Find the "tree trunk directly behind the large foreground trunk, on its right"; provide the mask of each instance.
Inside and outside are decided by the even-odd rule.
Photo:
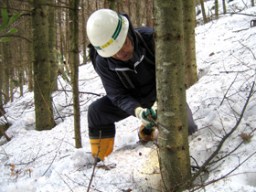
[[[195,0],[183,0],[184,34],[185,34],[185,69],[187,89],[195,84],[197,76],[196,59],[196,9]]]

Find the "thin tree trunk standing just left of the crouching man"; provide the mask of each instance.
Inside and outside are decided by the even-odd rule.
[[[71,82],[73,88],[73,108],[74,108],[74,130],[76,148],[81,147],[80,138],[80,97],[79,97],[79,0],[70,0],[70,33],[72,34],[71,43]]]

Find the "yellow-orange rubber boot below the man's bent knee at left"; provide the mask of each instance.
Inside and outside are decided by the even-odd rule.
[[[100,139],[90,139],[90,143],[91,155],[95,157],[99,152],[98,158],[104,161],[104,158],[112,153],[114,138],[101,139],[101,144]]]

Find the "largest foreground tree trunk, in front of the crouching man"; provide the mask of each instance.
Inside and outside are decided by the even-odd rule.
[[[155,0],[155,60],[162,191],[182,191],[191,177],[187,136],[182,0]]]

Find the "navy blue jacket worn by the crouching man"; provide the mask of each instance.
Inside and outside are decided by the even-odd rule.
[[[128,18],[128,16],[126,17]],[[123,62],[113,58],[102,58],[98,55],[96,57],[96,68],[107,96],[112,103],[124,112],[134,115],[137,107],[150,108],[156,100],[154,28],[139,27],[134,29],[129,18],[128,20],[129,29],[133,35],[133,56],[135,52],[138,57],[135,57],[132,63],[132,61]],[[134,30],[137,30],[144,37],[144,41],[154,55],[144,48],[144,43],[140,42]],[[147,62],[148,59],[151,62]],[[125,71],[135,88],[125,88],[115,70]]]

